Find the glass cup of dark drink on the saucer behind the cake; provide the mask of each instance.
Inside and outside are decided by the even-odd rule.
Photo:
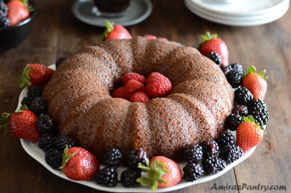
[[[104,17],[121,17],[130,10],[131,0],[93,0],[92,13]]]

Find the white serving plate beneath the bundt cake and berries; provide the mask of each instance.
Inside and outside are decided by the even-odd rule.
[[[50,65],[49,68],[51,69],[55,69],[55,65]],[[27,88],[23,89],[19,95],[19,100],[18,100],[18,106],[17,109],[18,110],[21,106],[21,101],[23,99],[23,97],[27,96]],[[235,136],[235,132],[232,132]],[[23,149],[33,158],[35,159],[37,162],[41,163],[45,168],[47,168],[51,173],[53,173],[54,175],[60,177],[60,178],[64,178],[66,180],[69,181],[73,181],[75,183],[79,183],[91,188],[94,188],[96,190],[100,190],[100,191],[106,191],[106,192],[114,192],[114,193],[152,193],[153,191],[149,188],[149,187],[136,187],[136,188],[125,188],[122,186],[121,182],[117,183],[116,187],[104,187],[104,186],[100,186],[98,185],[96,182],[94,181],[77,181],[77,180],[72,180],[69,179],[65,176],[65,174],[61,173],[59,170],[53,169],[51,168],[45,161],[45,152],[43,150],[41,150],[40,148],[38,148],[37,143],[35,142],[31,142],[31,141],[27,141],[25,139],[20,139],[21,145],[23,147]],[[231,170],[234,166],[236,166],[237,164],[241,163],[242,161],[244,161],[245,159],[247,159],[254,151],[255,148],[251,148],[249,149],[247,152],[243,153],[242,157],[238,160],[236,160],[233,163],[230,163],[228,165],[226,165],[226,168],[223,171],[218,172],[217,174],[214,175],[207,175],[207,176],[202,176],[200,178],[198,178],[197,180],[193,181],[193,182],[187,182],[186,180],[182,179],[178,184],[169,187],[169,188],[163,188],[163,189],[157,189],[155,192],[156,193],[165,193],[165,192],[169,192],[169,191],[174,191],[174,190],[178,190],[178,189],[182,189],[188,186],[192,186],[194,184],[199,184],[199,183],[203,183],[206,181],[210,181],[214,178],[218,178],[220,176],[222,176],[223,174],[225,174],[227,171]],[[185,162],[181,162],[178,163],[180,169],[182,170],[182,168],[186,165]],[[104,165],[100,165],[100,168],[102,168]],[[126,167],[124,166],[120,166],[118,167],[118,179],[120,179],[120,174],[123,170],[125,170]]]

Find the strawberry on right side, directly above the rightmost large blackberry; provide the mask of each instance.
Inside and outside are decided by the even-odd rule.
[[[249,66],[247,72],[242,74],[241,86],[247,88],[253,95],[254,99],[264,100],[267,92],[266,69],[256,73],[255,66]]]

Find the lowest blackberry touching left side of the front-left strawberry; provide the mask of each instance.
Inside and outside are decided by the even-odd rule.
[[[45,161],[54,169],[59,169],[63,163],[63,151],[55,148],[49,149],[45,154]]]

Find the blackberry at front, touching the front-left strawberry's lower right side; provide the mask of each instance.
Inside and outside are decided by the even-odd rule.
[[[113,187],[117,185],[117,169],[114,166],[104,167],[97,172],[93,180],[102,186]]]

